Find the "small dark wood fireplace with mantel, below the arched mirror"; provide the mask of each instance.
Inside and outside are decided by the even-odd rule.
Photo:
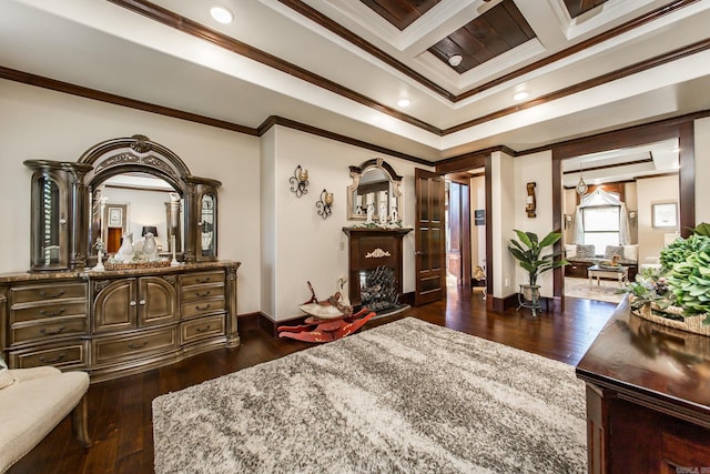
[[[410,229],[344,228],[349,238],[349,299],[378,314],[397,311],[402,295],[402,241]]]

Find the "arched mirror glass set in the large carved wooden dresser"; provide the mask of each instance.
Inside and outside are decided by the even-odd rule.
[[[104,251],[113,254],[129,238],[142,251],[146,236],[152,235],[158,254],[171,253],[173,240],[175,251],[182,252],[183,205],[182,196],[161,178],[142,172],[116,174],[93,192],[92,241],[101,236]]]

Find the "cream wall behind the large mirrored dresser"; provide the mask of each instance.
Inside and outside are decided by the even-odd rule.
[[[77,161],[95,143],[135,133],[178,154],[192,174],[222,181],[219,253],[242,262],[237,312],[260,310],[258,139],[0,80],[0,272],[30,266],[29,159]]]

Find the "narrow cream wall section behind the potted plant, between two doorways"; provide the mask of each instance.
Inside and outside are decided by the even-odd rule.
[[[535,232],[540,239],[552,231],[552,152],[518,157],[515,160],[515,229],[524,232]],[[535,218],[528,218],[525,210],[527,199],[527,183],[535,182],[537,211]],[[510,231],[508,239],[517,239]],[[552,252],[552,248],[542,251],[542,255]],[[528,284],[528,273],[516,261],[516,289],[520,284]],[[542,296],[552,296],[552,272],[548,271],[538,276],[537,284]]]

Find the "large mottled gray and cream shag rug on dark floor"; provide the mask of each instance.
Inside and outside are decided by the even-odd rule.
[[[153,401],[156,473],[584,473],[574,367],[413,317]]]

